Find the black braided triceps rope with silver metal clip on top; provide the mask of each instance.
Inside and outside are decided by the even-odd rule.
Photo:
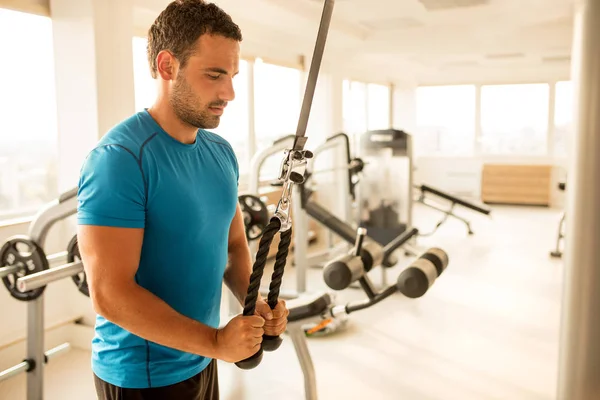
[[[248,294],[246,295],[244,304],[244,316],[254,315],[256,311],[256,301],[258,300],[260,283],[267,264],[267,256],[275,235],[277,232],[280,232],[279,247],[275,256],[275,266],[273,275],[271,276],[271,284],[269,285],[269,295],[267,297],[267,303],[271,309],[274,309],[277,306],[285,264],[287,262],[289,247],[292,242],[290,206],[293,185],[304,182],[307,159],[312,156],[313,154],[308,150],[286,151],[286,157],[281,164],[281,173],[279,175],[279,178],[284,181],[283,192],[275,214],[265,228],[258,245],[256,260],[254,261],[252,275],[250,276]],[[264,335],[260,349],[251,357],[237,362],[236,365],[242,369],[255,368],[262,360],[263,351],[277,350],[281,345],[281,342],[282,339],[279,336]]]

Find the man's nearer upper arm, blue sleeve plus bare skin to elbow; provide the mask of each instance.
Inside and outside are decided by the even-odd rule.
[[[90,295],[100,308],[105,295],[135,283],[145,227],[140,168],[129,150],[114,145],[92,151],[81,171],[77,237]]]

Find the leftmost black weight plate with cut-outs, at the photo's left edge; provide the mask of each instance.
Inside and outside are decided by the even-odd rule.
[[[12,297],[21,301],[35,300],[44,293],[46,286],[21,292],[17,289],[17,279],[41,272],[50,268],[44,250],[26,236],[13,236],[4,243],[0,250],[0,266],[19,265],[22,268],[2,278],[4,286]]]

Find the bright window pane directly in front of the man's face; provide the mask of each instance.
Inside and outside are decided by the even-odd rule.
[[[221,123],[212,132],[227,140],[238,159],[240,176],[248,173],[250,166],[250,116],[248,62],[240,60],[240,72],[233,78],[235,100],[229,102],[221,117]]]

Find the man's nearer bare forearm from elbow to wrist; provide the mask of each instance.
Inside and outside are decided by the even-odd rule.
[[[217,330],[188,318],[136,283],[105,289],[97,311],[123,329],[160,345],[219,358]],[[110,291],[108,291],[110,290]]]

